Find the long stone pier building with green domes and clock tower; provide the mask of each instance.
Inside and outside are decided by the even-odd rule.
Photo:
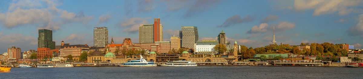
[[[235,42],[234,48],[237,48],[238,45]],[[106,49],[107,50],[107,49]],[[128,60],[138,60],[140,56],[117,56],[112,52],[108,52],[106,55],[95,51],[87,56],[87,62],[110,62],[110,63],[124,63]],[[237,49],[233,51],[233,53],[229,53],[228,55],[212,55],[212,54],[196,54],[191,55],[187,51],[184,51],[182,54],[156,54],[156,52],[150,52],[148,55],[143,56],[147,61],[153,62],[168,62],[170,60],[184,60],[184,61],[192,61],[198,62],[201,65],[209,64],[209,65],[225,65],[227,63],[232,63],[238,61],[237,59]]]

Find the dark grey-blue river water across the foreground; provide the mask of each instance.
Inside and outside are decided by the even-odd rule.
[[[361,79],[363,68],[196,66],[12,68],[0,79]]]

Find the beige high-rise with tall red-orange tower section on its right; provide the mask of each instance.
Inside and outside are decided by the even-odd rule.
[[[154,24],[139,26],[139,43],[155,43],[163,41],[163,26],[160,18],[154,18]]]

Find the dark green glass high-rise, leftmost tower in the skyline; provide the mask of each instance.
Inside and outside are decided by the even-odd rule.
[[[56,42],[53,41],[52,30],[38,30],[38,48],[56,49]]]

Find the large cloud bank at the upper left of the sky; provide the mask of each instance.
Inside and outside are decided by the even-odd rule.
[[[45,3],[42,5],[41,3]],[[37,28],[46,28],[52,30],[60,29],[61,25],[73,22],[87,23],[92,16],[86,16],[83,12],[78,14],[67,12],[56,8],[61,3],[54,3],[49,0],[20,0],[14,1],[9,6],[9,10],[0,13],[0,22],[6,28],[14,28],[23,25],[34,25]],[[61,13],[61,14],[60,14]],[[60,15],[60,16],[59,16]],[[53,21],[55,17],[61,17],[63,21]]]

